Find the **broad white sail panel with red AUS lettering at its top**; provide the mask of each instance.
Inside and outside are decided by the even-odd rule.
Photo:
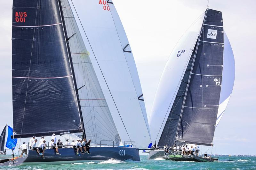
[[[80,32],[121,139],[135,141],[136,147],[147,147],[151,139],[135,87],[139,82],[134,84],[138,80],[131,73],[136,66],[126,61],[107,1],[69,2],[77,12],[76,21],[81,21]]]

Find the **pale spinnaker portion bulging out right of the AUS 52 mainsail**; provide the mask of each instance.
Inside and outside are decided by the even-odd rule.
[[[220,122],[221,117],[224,114],[231,93],[233,91],[235,81],[235,58],[228,40],[226,33],[224,32],[224,54],[223,54],[223,71],[222,71],[222,82],[220,91],[220,105],[217,115],[216,127]]]

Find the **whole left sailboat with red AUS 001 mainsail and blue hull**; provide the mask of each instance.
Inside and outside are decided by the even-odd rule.
[[[75,2],[77,1],[13,1],[12,137],[52,136],[53,133],[62,136],[82,134],[82,138],[92,138],[92,142],[99,147],[91,147],[90,154],[80,156],[76,155],[73,148],[58,149],[60,155],[56,155],[53,149],[46,149],[44,159],[35,151],[29,150],[28,154],[21,158],[1,160],[0,165],[63,164],[108,159],[140,161],[139,149],[134,146],[145,147],[151,142],[147,119],[144,117],[146,113],[140,82],[133,56],[130,54],[130,46],[122,48],[119,41],[118,48],[106,51],[101,54],[103,56],[98,54],[100,50],[92,45],[92,41],[106,40],[84,37],[87,31],[83,27],[84,33],[81,31],[81,26],[84,26],[82,21],[80,26],[76,22],[81,18],[75,18],[73,13],[79,12],[79,9],[72,9],[76,6]],[[112,19],[112,25],[121,24],[114,7],[113,11],[109,6],[105,10],[97,1],[81,1],[81,4],[86,3],[89,9],[100,9],[108,14],[113,12],[115,17],[108,15]],[[105,5],[109,3],[113,5],[110,1],[106,1]],[[72,8],[70,4],[73,4]],[[97,18],[94,19],[95,23],[100,22]],[[118,35],[122,34],[126,41],[123,28],[115,29],[115,37],[118,38]],[[114,40],[116,41],[113,38]],[[86,47],[90,49],[87,51]],[[124,74],[122,70],[113,72],[111,64],[104,65],[104,62],[97,60],[120,51],[122,55],[112,57],[122,60],[119,63],[125,62],[122,64],[122,70],[125,70],[125,73],[129,70],[129,75]],[[129,54],[125,55],[125,51]],[[129,61],[125,60],[127,56],[131,57]],[[98,62],[96,65],[95,61]],[[109,70],[102,67],[112,72],[109,73]],[[111,79],[109,76],[121,76],[123,79]],[[132,86],[124,86],[116,81],[129,82]],[[113,85],[118,85],[118,88]],[[115,88],[118,93],[115,93]],[[130,96],[125,97],[124,92]],[[118,124],[117,120],[121,120],[121,123]],[[131,120],[134,122],[129,122]],[[141,124],[140,132],[132,131],[137,121]],[[122,134],[121,137],[119,133]],[[133,133],[139,135],[138,144],[132,141],[136,141],[136,135]],[[128,139],[128,142],[121,141],[121,138]],[[127,144],[132,147],[125,147]]]

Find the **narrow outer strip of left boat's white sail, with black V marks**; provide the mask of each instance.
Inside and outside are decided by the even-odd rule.
[[[132,54],[132,50],[128,41],[128,38],[126,36],[126,33],[124,31],[124,27],[123,24],[119,18],[119,15],[116,11],[115,5],[113,4],[112,0],[108,1],[108,5],[110,7],[110,12],[112,14],[113,17],[113,21],[115,23],[116,26],[116,31],[118,34],[118,37],[120,39],[123,51],[124,51],[124,56],[127,62],[127,65],[129,67],[130,73],[131,73],[131,77],[132,77],[132,81],[135,87],[135,91],[137,93],[137,96],[139,98],[139,103],[140,103],[140,107],[141,107],[141,111],[142,114],[144,116],[144,120],[146,122],[147,128],[148,128],[148,133],[150,135],[150,131],[149,131],[149,126],[148,126],[148,116],[147,116],[147,112],[146,112],[146,107],[145,107],[145,103],[144,103],[144,98],[143,98],[143,93],[142,93],[142,89],[141,89],[141,85],[140,85],[140,78],[139,78],[139,74],[136,68],[136,63],[134,61],[133,58],[133,54]]]

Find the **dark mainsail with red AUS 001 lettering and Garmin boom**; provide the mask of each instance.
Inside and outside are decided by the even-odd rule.
[[[82,132],[58,0],[13,1],[12,93],[15,138]]]

